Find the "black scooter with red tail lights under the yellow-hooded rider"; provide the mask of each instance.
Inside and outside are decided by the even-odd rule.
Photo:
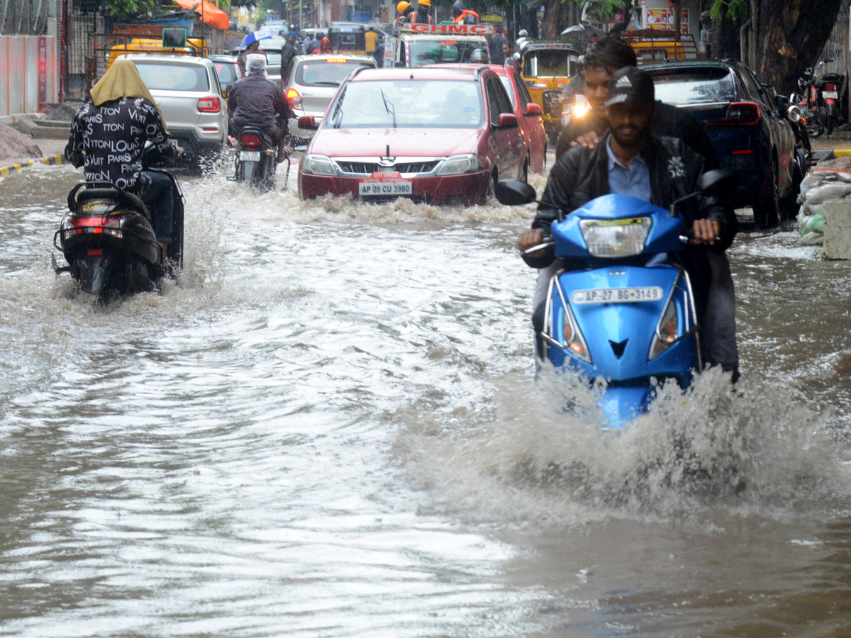
[[[109,182],[83,182],[68,194],[68,213],[54,233],[54,247],[62,251],[68,272],[84,293],[109,300],[112,295],[157,288],[160,280],[183,265],[183,195],[174,175],[172,241],[168,253],[157,242],[151,213],[133,193]]]

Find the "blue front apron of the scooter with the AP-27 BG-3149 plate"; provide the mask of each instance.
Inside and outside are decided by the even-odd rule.
[[[611,386],[675,378],[685,387],[700,369],[694,295],[674,264],[559,272],[542,337],[554,366]]]

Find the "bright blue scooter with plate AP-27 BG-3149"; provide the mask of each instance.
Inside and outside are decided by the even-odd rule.
[[[526,251],[554,247],[557,259],[580,260],[579,269],[551,279],[541,356],[557,369],[606,379],[599,406],[609,427],[646,412],[666,379],[685,389],[701,369],[694,293],[677,259],[690,229],[677,208],[732,192],[736,181],[728,171],[709,171],[670,211],[637,197],[597,197],[554,222],[553,241]],[[507,205],[536,200],[534,188],[516,179],[500,181],[495,195]]]

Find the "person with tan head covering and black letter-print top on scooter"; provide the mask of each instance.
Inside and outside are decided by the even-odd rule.
[[[145,170],[142,153],[148,141],[160,157],[183,155],[182,148],[169,143],[163,114],[139,70],[120,57],[74,116],[65,157],[76,168],[83,166],[87,181],[109,182],[138,195],[165,248],[171,241],[172,183],[166,174]]]

